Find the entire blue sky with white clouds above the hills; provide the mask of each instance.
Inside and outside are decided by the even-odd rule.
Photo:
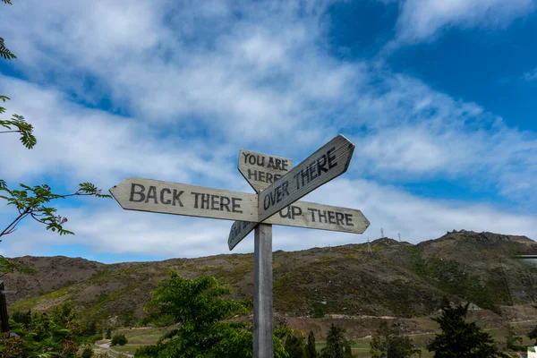
[[[13,1],[0,35],[0,177],[69,192],[124,178],[251,192],[240,149],[298,164],[344,134],[345,175],[304,200],[361,209],[362,235],[275,226],[274,250],[418,243],[453,229],[537,238],[537,2]],[[75,236],[30,221],[6,256],[164,260],[226,253],[232,222],[64,200]],[[0,206],[0,224],[14,215]],[[234,251],[252,251],[252,236]]]

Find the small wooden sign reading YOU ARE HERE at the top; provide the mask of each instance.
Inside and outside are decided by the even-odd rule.
[[[256,192],[276,182],[292,166],[293,160],[288,158],[269,156],[244,149],[239,152],[239,172]]]

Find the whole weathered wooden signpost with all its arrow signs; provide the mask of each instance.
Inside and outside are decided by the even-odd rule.
[[[253,357],[272,358],[272,225],[362,234],[362,211],[297,201],[342,175],[354,144],[338,135],[298,166],[289,158],[239,152],[239,172],[256,194],[128,178],[110,189],[123,209],[235,220],[229,250],[255,229]]]

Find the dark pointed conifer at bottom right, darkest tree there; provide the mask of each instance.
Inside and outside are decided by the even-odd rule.
[[[444,299],[442,314],[433,320],[439,323],[441,333],[427,345],[435,358],[491,358],[504,357],[494,345],[490,334],[479,328],[475,322],[466,322],[468,305],[451,304]]]

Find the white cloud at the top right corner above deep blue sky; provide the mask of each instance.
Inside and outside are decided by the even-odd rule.
[[[451,27],[506,27],[531,13],[533,0],[406,0],[397,20],[402,42],[422,42]]]

